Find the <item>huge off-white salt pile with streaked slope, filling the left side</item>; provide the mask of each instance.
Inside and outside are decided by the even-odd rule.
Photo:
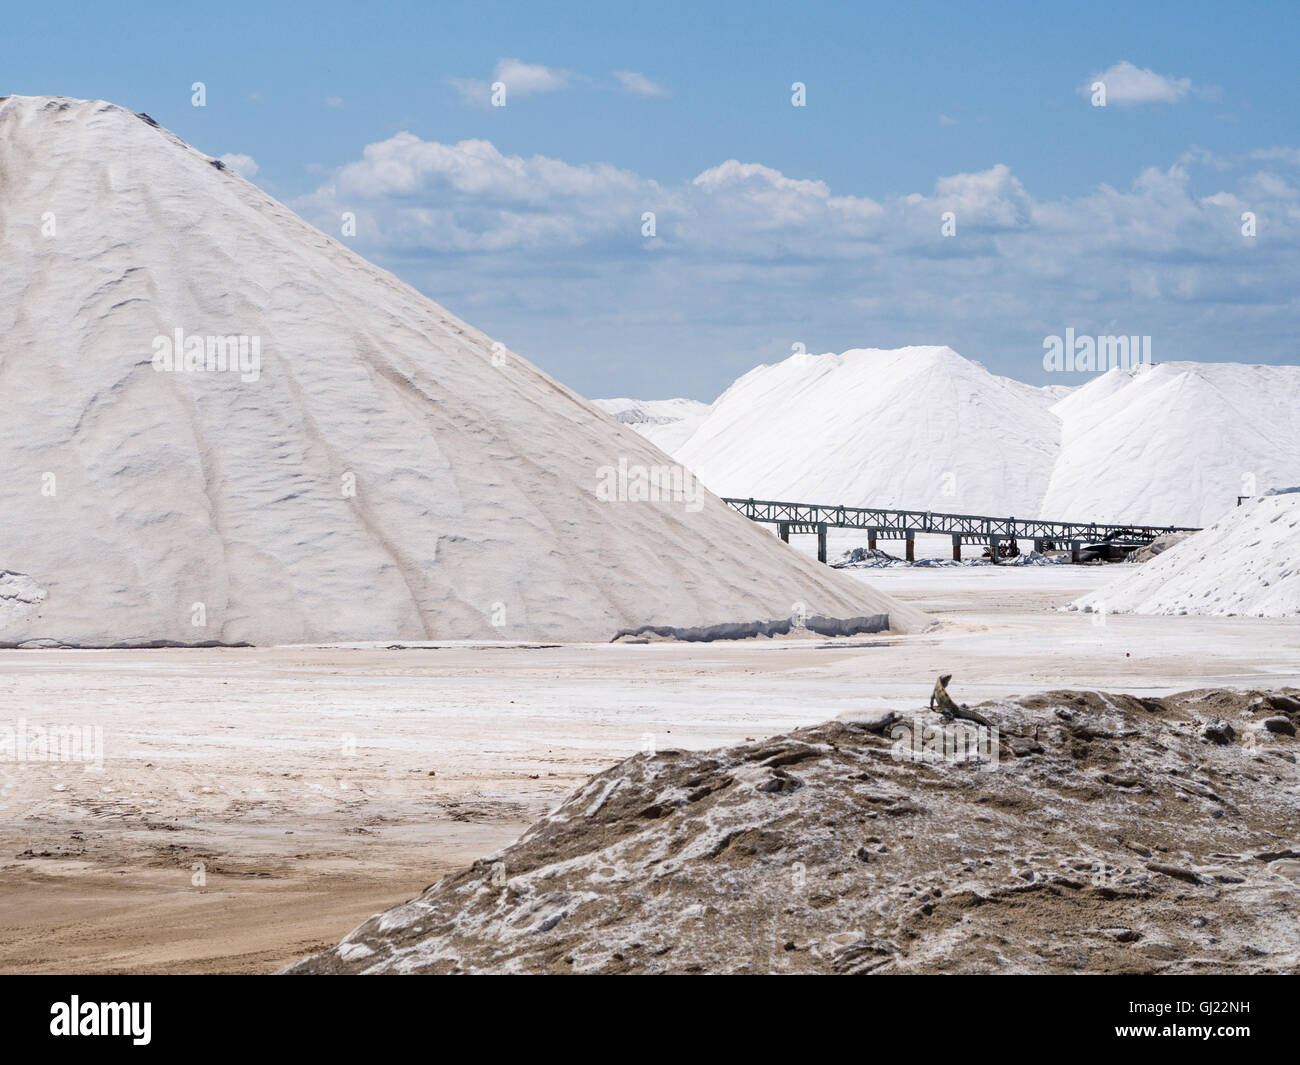
[[[176,330],[242,372],[168,365]],[[0,645],[927,624],[638,501],[658,449],[101,101],[0,100]]]

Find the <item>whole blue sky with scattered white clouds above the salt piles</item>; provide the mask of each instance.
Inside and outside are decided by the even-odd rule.
[[[1294,3],[5,22],[0,92],[147,111],[334,235],[355,213],[347,243],[589,395],[711,399],[794,343],[948,343],[1057,382],[1043,341],[1066,328],[1300,362]]]

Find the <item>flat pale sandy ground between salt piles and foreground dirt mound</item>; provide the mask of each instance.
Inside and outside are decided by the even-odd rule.
[[[1113,567],[866,571],[935,633],[715,645],[0,651],[0,971],[270,971],[494,852],[645,745],[1044,688],[1300,684],[1300,624],[1053,607]]]

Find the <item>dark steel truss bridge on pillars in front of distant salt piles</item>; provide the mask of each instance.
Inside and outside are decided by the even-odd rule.
[[[1040,521],[1024,518],[988,518],[982,514],[940,514],[922,510],[878,510],[874,507],[828,507],[818,503],[781,503],[772,499],[723,499],[751,521],[776,525],[781,540],[790,533],[816,533],[819,562],[826,562],[827,529],[862,529],[867,547],[876,540],[904,540],[907,560],[915,558],[919,534],[950,536],[953,558],[961,562],[963,544],[985,544],[989,557],[998,560],[1000,545],[1032,540],[1036,551],[1066,550],[1080,562],[1084,550],[1102,549],[1108,554],[1145,547],[1166,533],[1199,532],[1186,525],[1106,525],[1098,521]]]

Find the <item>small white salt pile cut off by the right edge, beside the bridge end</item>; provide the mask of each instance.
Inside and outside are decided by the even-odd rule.
[[[1300,616],[1300,489],[1247,501],[1072,607],[1115,614]]]

